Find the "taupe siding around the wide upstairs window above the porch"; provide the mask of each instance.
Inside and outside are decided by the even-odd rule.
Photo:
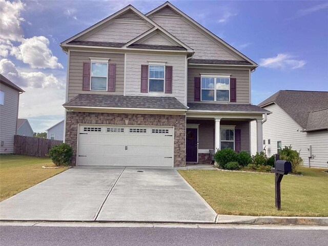
[[[199,77],[199,73],[231,74],[237,81],[237,103],[250,104],[250,70],[248,69],[213,69],[212,68],[188,68],[188,102],[194,101],[194,77]],[[208,103],[208,101],[207,101]]]

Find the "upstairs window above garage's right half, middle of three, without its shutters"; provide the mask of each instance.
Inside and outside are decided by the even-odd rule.
[[[149,66],[149,92],[164,92],[165,66]]]

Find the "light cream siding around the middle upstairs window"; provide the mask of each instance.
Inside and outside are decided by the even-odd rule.
[[[127,54],[126,95],[174,96],[185,104],[186,55]],[[173,67],[172,93],[141,93],[141,65],[148,61],[166,62]]]

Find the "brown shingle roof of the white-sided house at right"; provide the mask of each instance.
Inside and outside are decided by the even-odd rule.
[[[277,104],[303,129],[315,129],[318,126],[322,127],[324,122],[320,120],[320,117],[326,113],[323,109],[328,108],[328,92],[280,90],[258,106],[264,108],[271,104]],[[314,119],[314,117],[319,117],[319,119]]]

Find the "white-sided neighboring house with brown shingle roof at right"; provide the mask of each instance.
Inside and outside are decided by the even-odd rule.
[[[263,124],[263,146],[268,156],[291,145],[300,151],[304,166],[328,167],[328,92],[283,90],[258,106],[272,112]],[[252,144],[255,141],[252,122]]]

